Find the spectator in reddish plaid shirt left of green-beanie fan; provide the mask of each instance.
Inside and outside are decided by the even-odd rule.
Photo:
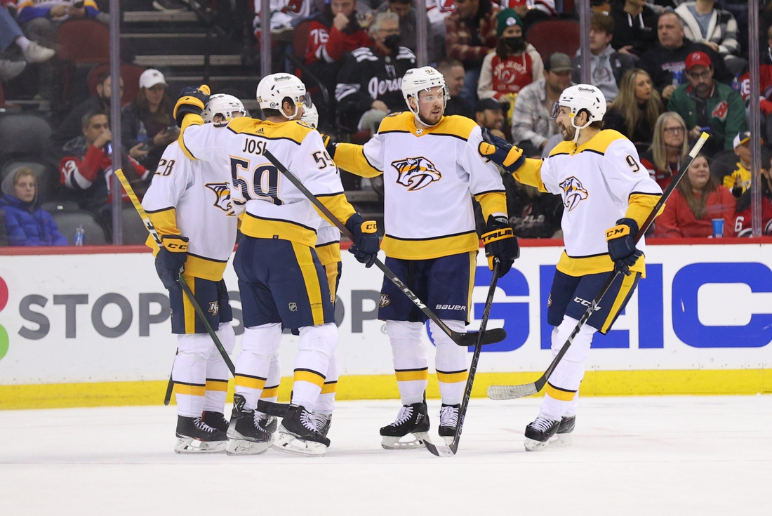
[[[445,53],[464,63],[462,99],[476,104],[482,59],[499,44],[498,5],[491,0],[455,0],[455,12],[445,18]]]

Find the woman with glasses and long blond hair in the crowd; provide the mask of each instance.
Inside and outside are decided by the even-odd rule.
[[[664,190],[678,174],[687,152],[686,123],[675,111],[665,111],[654,124],[654,140],[641,154],[641,163]]]

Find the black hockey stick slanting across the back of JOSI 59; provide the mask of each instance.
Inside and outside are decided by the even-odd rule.
[[[271,154],[270,151],[266,149],[266,151],[263,151],[263,155],[266,156],[266,158],[273,163],[276,168],[278,168],[283,175],[286,176],[286,178],[289,179],[289,182],[291,182],[293,185],[296,186],[300,192],[303,192],[303,195],[305,195],[310,202],[313,203],[314,206],[319,209],[320,212],[322,212],[325,216],[327,216],[328,219],[330,219],[331,222],[334,223],[335,226],[337,226],[338,229],[340,229],[340,233],[343,233],[345,236],[348,237],[352,242],[354,242],[354,235],[351,234],[351,232],[348,230],[348,228],[344,225],[343,222],[340,222],[340,220],[337,219],[336,216],[333,215],[332,212],[330,212],[329,209],[327,209],[327,206],[323,205],[322,202],[317,199],[316,195],[313,195],[311,192],[308,191],[308,188],[306,188],[303,183],[300,182],[300,180],[287,168],[282,164],[281,161],[276,159],[276,156]],[[412,290],[408,288],[405,283],[402,283],[402,280],[400,280],[387,266],[384,265],[381,260],[378,260],[378,258],[375,259],[375,265],[378,266],[378,269],[382,270],[383,273],[388,277],[389,280],[391,280],[394,285],[399,287],[399,290],[402,291],[405,296],[407,296],[415,306],[421,309],[421,311],[428,317],[429,319],[432,319],[432,321],[435,321],[435,323],[439,326],[439,328],[445,332],[445,334],[448,334],[448,336],[459,346],[473,346],[476,345],[477,341],[479,340],[477,338],[477,331],[470,331],[469,333],[459,333],[458,331],[453,331],[448,327],[447,324],[442,322],[439,317],[437,317],[434,312],[429,310],[429,308],[422,302],[422,300],[418,299],[418,296],[413,294]],[[496,328],[495,330],[491,330],[486,334],[485,338],[482,338],[482,344],[494,344],[496,342],[503,341],[506,338],[506,331],[504,331],[504,328]]]

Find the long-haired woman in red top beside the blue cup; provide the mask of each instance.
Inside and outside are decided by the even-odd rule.
[[[724,236],[732,237],[736,205],[732,192],[710,174],[708,158],[698,154],[657,218],[655,236],[706,238],[713,235],[713,219],[723,219]]]

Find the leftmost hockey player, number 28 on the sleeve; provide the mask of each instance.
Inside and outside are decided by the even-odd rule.
[[[212,95],[204,121],[223,127],[244,116],[239,99]],[[228,289],[222,280],[236,239],[237,219],[230,196],[230,170],[225,160],[188,159],[177,142],[164,151],[142,205],[164,247],[157,251],[156,270],[169,290],[172,331],[178,334],[178,354],[172,379],[177,397],[178,453],[225,450],[228,422],[223,416],[228,391],[228,366],[198,320],[178,283],[182,274],[209,324],[229,354],[235,345]]]

